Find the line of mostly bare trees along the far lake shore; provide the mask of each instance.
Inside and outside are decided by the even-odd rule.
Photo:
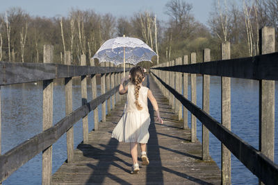
[[[215,0],[207,25],[195,19],[192,8],[186,1],[170,0],[165,4],[168,20],[153,12],[114,17],[79,9],[67,17],[32,17],[22,8],[10,8],[0,15],[0,60],[42,62],[43,45],[52,44],[54,62],[63,63],[65,51],[71,51],[73,64],[79,64],[81,54],[91,58],[107,39],[122,35],[138,37],[154,49],[159,55],[154,64],[190,52],[202,61],[204,48],[217,60],[224,41],[231,42],[231,58],[238,58],[259,53],[259,28],[278,31],[278,0]]]

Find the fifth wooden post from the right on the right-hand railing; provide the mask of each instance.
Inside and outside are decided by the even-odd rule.
[[[183,64],[188,64],[188,55],[183,56]],[[183,73],[183,96],[188,98],[188,73]],[[188,109],[183,107],[183,129],[188,128]]]

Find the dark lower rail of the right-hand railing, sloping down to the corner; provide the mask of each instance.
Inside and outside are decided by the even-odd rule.
[[[152,73],[154,74],[154,73]],[[155,76],[155,75],[154,75]],[[156,78],[158,78],[156,76]],[[177,93],[175,89],[167,85],[160,78],[159,82],[181,101],[188,111],[196,116],[208,130],[233,153],[256,177],[261,179],[265,184],[276,184],[278,182],[278,165],[273,161],[265,157],[259,150],[252,147],[249,143],[240,139],[236,134],[224,127],[221,123],[216,121],[209,114],[206,114],[204,110],[197,107],[187,98],[184,98],[181,94]]]

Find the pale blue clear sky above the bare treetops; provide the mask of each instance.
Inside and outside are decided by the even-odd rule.
[[[2,2],[1,2],[2,1]],[[115,17],[132,16],[134,12],[149,10],[158,19],[167,21],[165,4],[170,0],[0,0],[0,12],[10,7],[20,7],[30,15],[41,17],[67,16],[72,8],[92,9],[99,13],[110,12]],[[213,0],[186,0],[193,4],[193,15],[206,24]]]

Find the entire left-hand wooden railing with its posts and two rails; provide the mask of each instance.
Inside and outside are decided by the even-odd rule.
[[[0,62],[0,107],[1,86],[18,83],[42,81],[43,88],[43,131],[24,141],[15,148],[1,155],[0,144],[0,184],[15,170],[42,152],[42,184],[51,184],[52,174],[52,145],[67,133],[67,162],[74,157],[73,125],[83,119],[83,143],[88,143],[88,113],[94,110],[95,130],[98,130],[99,118],[97,106],[102,104],[102,121],[106,120],[106,100],[108,113],[115,108],[115,103],[121,100],[116,94],[123,77],[122,67],[113,67],[111,63],[101,63],[95,67],[94,60],[90,60],[90,67],[85,66],[85,55],[81,55],[81,66],[72,66],[70,51],[65,52],[65,64],[53,64],[53,46],[44,46],[44,63],[15,63]],[[126,68],[128,71],[129,68]],[[96,75],[101,74],[101,96],[97,97]],[[72,111],[72,78],[81,76],[82,106]],[[92,86],[92,100],[87,101],[87,76]],[[65,79],[65,118],[53,125],[53,80]],[[107,89],[107,91],[106,91]],[[111,107],[112,102],[112,107]],[[1,143],[1,109],[0,109],[0,143]]]

